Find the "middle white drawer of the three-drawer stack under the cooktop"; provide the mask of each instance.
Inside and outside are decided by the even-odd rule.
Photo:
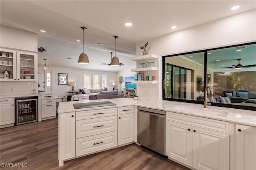
[[[117,116],[76,121],[76,138],[117,131]]]

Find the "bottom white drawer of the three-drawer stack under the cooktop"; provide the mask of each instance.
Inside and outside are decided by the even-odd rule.
[[[76,139],[76,156],[117,146],[117,131]]]

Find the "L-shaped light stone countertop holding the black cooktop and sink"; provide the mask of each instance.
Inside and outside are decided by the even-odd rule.
[[[96,108],[90,107],[90,108],[82,108],[82,109],[74,109],[73,107],[73,104],[75,103],[104,102],[104,101],[109,101],[117,105],[96,107]],[[208,106],[208,108],[206,109],[206,108],[203,108],[204,106],[202,104],[191,104],[191,103],[174,102],[174,101],[151,102],[151,101],[133,100],[132,98],[60,102],[58,107],[58,113],[61,114],[61,113],[74,112],[74,111],[105,109],[105,108],[122,107],[122,106],[148,107],[152,109],[172,111],[175,113],[193,115],[198,117],[206,117],[209,119],[228,121],[232,123],[239,123],[242,125],[249,125],[249,126],[256,127],[256,111],[252,111],[252,110],[234,109],[234,108],[217,107],[217,106]]]

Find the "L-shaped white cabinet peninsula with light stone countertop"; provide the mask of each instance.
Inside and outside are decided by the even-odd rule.
[[[81,109],[73,107],[73,104],[78,103],[106,101],[116,105]],[[165,145],[169,159],[195,169],[203,166],[217,169],[255,169],[255,111],[216,106],[205,109],[200,104],[149,102],[132,98],[61,102],[58,109],[59,166],[66,160],[137,143],[137,106],[166,111]],[[189,130],[187,127],[183,128],[184,125]],[[175,129],[187,130],[178,134],[181,131],[175,132]],[[248,136],[244,136],[244,133]],[[186,137],[180,138],[182,135]],[[193,153],[192,135],[193,139],[201,142],[197,146],[194,145],[196,141],[193,142]],[[172,137],[186,141],[175,144],[172,143]],[[215,144],[207,140],[202,143],[204,139],[215,141]],[[183,146],[184,143],[191,148]],[[182,155],[175,153],[173,147],[187,150]],[[214,153],[210,152],[212,148]],[[177,154],[180,155],[176,156]],[[206,159],[196,160],[196,157]]]

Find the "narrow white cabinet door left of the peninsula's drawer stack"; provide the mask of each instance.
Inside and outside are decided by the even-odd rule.
[[[76,114],[59,114],[59,165],[76,156]]]

